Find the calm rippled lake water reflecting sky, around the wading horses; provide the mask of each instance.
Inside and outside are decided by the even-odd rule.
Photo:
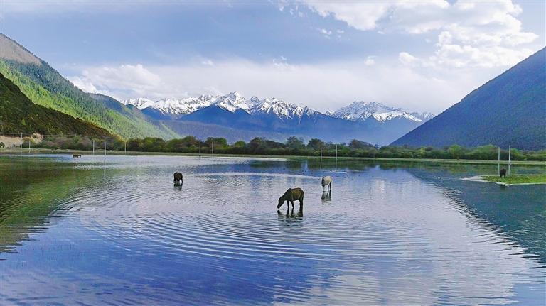
[[[0,156],[0,304],[544,305],[546,187],[461,180],[496,171]]]

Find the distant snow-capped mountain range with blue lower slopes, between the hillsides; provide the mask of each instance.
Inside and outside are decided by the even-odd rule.
[[[247,100],[239,92],[180,100],[172,97],[159,101],[137,98],[121,103],[136,106],[143,114],[156,120],[164,120],[177,132],[182,132],[179,128],[181,122],[198,122],[247,133],[273,132],[334,142],[360,139],[380,145],[394,141],[434,117],[429,113],[409,114],[377,102],[354,102],[338,111],[322,114],[275,98],[251,97]]]

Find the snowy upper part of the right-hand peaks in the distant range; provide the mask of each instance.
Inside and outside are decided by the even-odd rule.
[[[402,109],[394,109],[378,102],[365,103],[362,101],[355,101],[337,111],[326,111],[326,115],[348,121],[365,121],[373,117],[373,119],[380,122],[390,121],[395,118],[405,118],[419,123],[434,117],[430,113],[419,113],[416,111],[410,114]]]

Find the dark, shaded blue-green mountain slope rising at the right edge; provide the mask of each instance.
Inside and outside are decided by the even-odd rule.
[[[392,145],[546,149],[546,48]]]

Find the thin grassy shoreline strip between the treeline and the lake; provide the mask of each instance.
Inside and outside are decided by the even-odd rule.
[[[0,155],[29,155],[29,154],[73,154],[90,155],[90,151],[79,150],[51,150],[44,148],[20,148],[16,149],[0,149]],[[103,155],[104,151],[97,150],[95,155]],[[107,155],[167,155],[167,156],[198,156],[197,153],[176,153],[176,152],[140,152],[140,151],[106,151]],[[240,157],[240,158],[287,158],[287,159],[319,159],[319,156],[304,156],[304,155],[248,155],[248,154],[201,154],[203,158],[225,158],[225,157]],[[323,156],[325,160],[334,160],[334,156]],[[391,161],[391,162],[412,162],[412,163],[451,163],[451,164],[477,164],[477,165],[497,165],[498,160],[463,160],[463,159],[432,159],[432,158],[364,158],[364,157],[338,157],[338,160],[365,160],[365,161]],[[501,160],[501,165],[508,165],[508,160]],[[512,160],[512,165],[544,165],[545,161],[535,160]]]

